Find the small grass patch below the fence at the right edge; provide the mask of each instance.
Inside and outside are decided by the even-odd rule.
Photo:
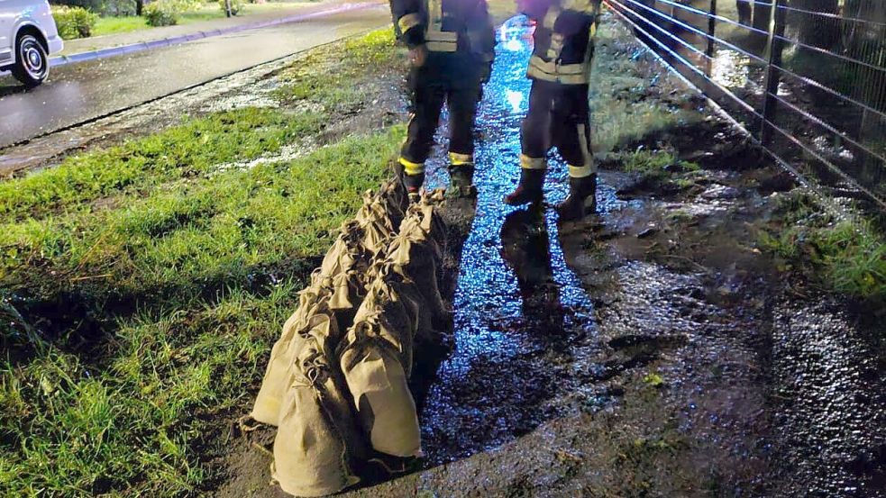
[[[782,267],[807,270],[820,285],[882,309],[886,304],[886,239],[872,222],[836,220],[808,195],[781,203],[782,220],[761,231],[763,249]]]

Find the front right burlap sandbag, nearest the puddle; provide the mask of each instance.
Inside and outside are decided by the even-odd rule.
[[[339,356],[357,419],[372,448],[394,457],[422,454],[416,403],[397,352],[380,337],[379,321],[359,321]]]

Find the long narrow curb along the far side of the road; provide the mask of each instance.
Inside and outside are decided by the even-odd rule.
[[[205,32],[193,32],[188,34],[182,34],[178,36],[172,36],[169,38],[161,38],[160,40],[152,40],[152,41],[140,41],[138,43],[131,43],[129,45],[120,45],[119,47],[112,47],[108,49],[99,49],[99,50],[90,50],[87,52],[80,52],[77,54],[71,55],[63,55],[59,57],[50,58],[50,67],[57,68],[59,66],[65,66],[68,64],[75,64],[78,62],[87,62],[89,60],[97,60],[97,59],[106,59],[108,57],[114,57],[118,55],[141,52],[144,50],[153,50],[160,49],[162,47],[169,47],[171,45],[177,45],[179,43],[186,43],[187,41],[195,41],[195,40],[203,40],[206,38],[212,38],[215,36],[220,36],[223,34],[228,34],[232,32],[242,32],[246,30],[255,30],[260,28],[267,28],[270,26],[276,26],[279,24],[286,23],[295,23],[297,21],[306,21],[308,19],[313,19],[315,17],[323,17],[324,15],[329,14],[338,14],[341,12],[347,12],[352,10],[361,10],[369,7],[374,7],[382,5],[376,2],[362,2],[359,4],[344,4],[337,6],[332,9],[326,9],[322,11],[317,11],[308,14],[294,14],[289,15],[287,17],[280,17],[279,19],[274,19],[271,21],[262,21],[260,23],[250,23],[250,24],[242,24],[239,26],[231,26],[228,28],[218,28],[215,30],[208,30]]]

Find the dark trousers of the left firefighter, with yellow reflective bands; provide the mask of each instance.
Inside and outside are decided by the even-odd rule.
[[[400,151],[400,164],[407,175],[424,173],[444,103],[449,107],[450,164],[473,166],[474,119],[481,95],[479,71],[464,75],[462,70],[466,77],[459,78],[458,74],[443,75],[435,69],[416,68],[410,77],[413,115]]]

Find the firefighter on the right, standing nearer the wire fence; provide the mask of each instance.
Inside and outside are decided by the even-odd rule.
[[[590,153],[588,80],[600,0],[518,0],[536,23],[526,76],[529,112],[520,134],[520,184],[510,205],[540,203],[547,153],[554,146],[569,165],[569,196],[557,206],[561,221],[597,208],[597,168]]]

